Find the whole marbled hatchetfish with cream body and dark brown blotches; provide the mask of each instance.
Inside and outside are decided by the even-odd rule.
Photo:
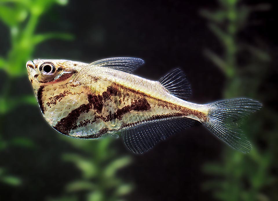
[[[127,149],[142,154],[170,135],[202,124],[233,149],[250,152],[240,125],[262,107],[260,102],[188,102],[191,86],[180,68],[153,81],[132,74],[144,63],[133,57],[90,64],[35,59],[26,68],[43,117],[63,135],[86,140],[121,136]]]

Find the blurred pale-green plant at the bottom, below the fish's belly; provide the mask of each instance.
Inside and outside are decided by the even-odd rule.
[[[63,155],[64,161],[73,163],[81,171],[81,178],[67,184],[66,195],[54,200],[78,200],[77,195],[81,193],[81,197],[88,201],[114,201],[123,200],[122,197],[131,192],[132,185],[124,183],[116,174],[131,163],[131,157],[118,157],[118,153],[113,149],[113,139],[92,141],[66,137],[65,140],[84,151],[87,156],[76,153]],[[80,199],[81,197],[79,196]]]

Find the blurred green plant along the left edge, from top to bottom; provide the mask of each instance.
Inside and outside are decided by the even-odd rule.
[[[1,139],[4,126],[3,119],[6,114],[20,104],[37,104],[33,95],[23,95],[19,98],[14,98],[10,95],[12,80],[27,75],[25,63],[31,58],[36,45],[52,38],[72,38],[70,34],[65,33],[35,33],[39,18],[55,3],[65,5],[67,2],[61,0],[0,1],[0,19],[10,30],[11,45],[6,57],[0,56],[0,70],[6,73],[6,79],[0,91],[0,151],[7,148],[8,145],[26,148],[34,147],[32,140],[25,137],[13,138],[10,142]],[[19,178],[6,175],[6,173],[7,171],[1,172],[0,182],[10,185],[21,184]]]

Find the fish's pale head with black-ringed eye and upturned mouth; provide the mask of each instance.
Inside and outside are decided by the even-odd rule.
[[[41,85],[70,82],[87,64],[64,59],[35,59],[26,63],[28,77],[34,89]]]

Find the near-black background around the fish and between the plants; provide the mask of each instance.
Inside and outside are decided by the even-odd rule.
[[[259,2],[244,1],[248,5]],[[251,15],[250,26],[240,36],[251,42],[259,37],[277,51],[277,3],[269,3],[271,10]],[[223,50],[199,11],[214,10],[217,5],[217,1],[71,0],[63,8],[51,8],[37,31],[66,31],[75,39],[40,44],[30,60],[59,58],[90,63],[108,57],[139,57],[146,63],[134,74],[157,80],[180,67],[191,83],[193,93],[189,101],[213,102],[222,98],[225,76],[204,56],[203,50],[210,48],[220,55]],[[1,37],[9,38],[1,23],[0,29]],[[0,45],[4,54],[9,49],[8,41],[1,40]],[[274,85],[275,81],[276,78],[269,79],[266,85]],[[13,90],[14,94],[18,90],[31,94],[27,76],[16,81]],[[60,196],[63,186],[79,173],[72,165],[62,163],[56,153],[75,149],[59,144],[58,133],[47,125],[38,107],[19,107],[8,115],[5,124],[8,125],[5,135],[28,131],[26,135],[38,148],[35,152],[12,147],[2,153],[1,164],[8,161],[12,173],[24,173],[26,183],[16,191],[0,184],[1,195],[6,200]],[[121,153],[127,152],[121,139],[115,140],[113,146]],[[202,172],[202,166],[208,161],[221,160],[225,146],[203,126],[197,126],[169,137],[143,155],[128,153],[134,162],[121,170],[120,175],[133,181],[136,188],[127,200],[214,200],[211,192],[202,190],[202,183],[209,178]]]

